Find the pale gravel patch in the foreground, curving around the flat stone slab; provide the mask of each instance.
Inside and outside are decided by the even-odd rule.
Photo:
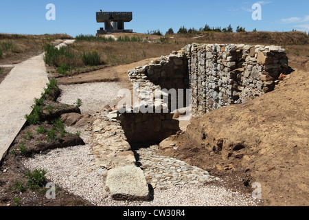
[[[66,130],[74,133],[73,127]],[[83,130],[82,130],[83,131]],[[82,132],[85,146],[73,146],[25,159],[30,170],[44,168],[47,179],[68,192],[87,199],[96,206],[256,206],[249,195],[232,192],[218,186],[172,186],[155,188],[152,201],[114,201],[105,190],[105,178],[94,165],[89,135]]]

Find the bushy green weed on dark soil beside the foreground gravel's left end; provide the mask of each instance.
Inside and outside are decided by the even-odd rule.
[[[42,170],[40,169],[36,169],[33,172],[31,172],[30,170],[27,170],[27,172],[24,173],[24,177],[25,179],[27,179],[27,185],[31,188],[31,189],[38,189],[40,187],[45,186],[46,183],[46,179],[45,179],[45,175],[46,175],[47,171],[46,170]]]

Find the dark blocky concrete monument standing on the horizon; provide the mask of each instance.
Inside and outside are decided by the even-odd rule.
[[[127,32],[132,33],[133,30],[125,30],[124,22],[130,22],[133,19],[132,12],[96,12],[97,14],[97,22],[105,23],[104,28],[100,28],[97,31],[97,35],[100,34],[110,34],[115,32]]]

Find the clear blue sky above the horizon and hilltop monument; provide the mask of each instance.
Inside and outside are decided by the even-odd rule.
[[[56,6],[56,20],[47,21],[46,5]],[[253,21],[253,3],[262,6],[262,20]],[[207,1],[207,0],[10,0],[0,3],[0,33],[95,34],[104,27],[96,23],[95,12],[133,12],[133,21],[125,23],[126,29],[146,33],[148,30],[168,28],[177,32],[182,25],[186,28],[209,26],[226,28],[231,24],[234,31],[240,25],[247,31],[309,31],[308,0],[266,1]]]

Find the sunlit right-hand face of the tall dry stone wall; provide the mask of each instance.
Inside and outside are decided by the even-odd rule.
[[[282,47],[187,45],[192,111],[208,112],[272,91],[288,58]]]

